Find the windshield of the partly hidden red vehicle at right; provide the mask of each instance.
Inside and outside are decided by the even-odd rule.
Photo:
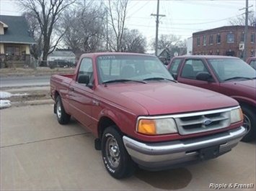
[[[219,81],[255,79],[255,70],[240,59],[208,59]]]

